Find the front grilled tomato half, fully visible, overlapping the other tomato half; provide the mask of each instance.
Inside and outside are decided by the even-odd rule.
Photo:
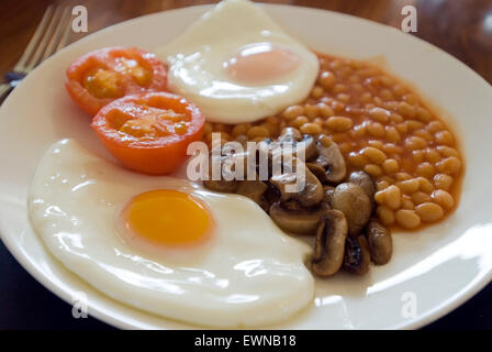
[[[202,138],[204,118],[182,97],[144,92],[116,99],[92,120],[99,139],[124,166],[145,174],[169,174]]]

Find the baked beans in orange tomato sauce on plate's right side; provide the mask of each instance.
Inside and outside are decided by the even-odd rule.
[[[421,229],[456,207],[463,162],[446,123],[404,84],[378,66],[318,55],[320,74],[310,97],[255,123],[205,123],[204,140],[277,138],[286,127],[327,134],[348,170],[362,169],[377,188],[377,216],[400,229]]]

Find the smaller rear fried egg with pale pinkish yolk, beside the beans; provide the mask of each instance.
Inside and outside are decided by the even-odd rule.
[[[168,87],[211,122],[253,122],[310,94],[315,54],[247,0],[224,0],[171,43],[156,50]]]

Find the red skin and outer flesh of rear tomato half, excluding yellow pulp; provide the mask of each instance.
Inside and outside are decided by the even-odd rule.
[[[94,68],[113,70],[116,66],[116,58],[125,57],[135,59],[144,66],[152,75],[148,86],[139,86],[128,75],[120,74],[122,94],[121,96],[134,95],[144,91],[161,91],[167,89],[167,70],[164,64],[155,54],[148,53],[137,47],[105,47],[97,50],[76,59],[66,72],[68,81],[65,87],[70,98],[85,112],[94,116],[102,107],[113,101],[114,98],[99,98],[90,94],[83,87],[86,75]]]

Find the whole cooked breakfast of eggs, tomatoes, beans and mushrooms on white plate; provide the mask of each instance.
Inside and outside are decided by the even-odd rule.
[[[112,47],[67,70],[69,95],[130,170],[63,140],[29,195],[47,249],[110,297],[209,327],[281,322],[312,301],[312,274],[362,275],[391,260],[392,231],[456,209],[456,136],[373,64],[308,50],[247,0],[222,1],[156,52],[167,67]],[[247,172],[183,179],[195,141],[212,147],[204,161]],[[292,169],[275,172],[279,147]]]

